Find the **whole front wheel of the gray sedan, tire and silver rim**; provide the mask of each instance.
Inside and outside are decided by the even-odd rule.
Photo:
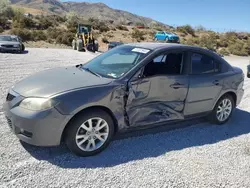
[[[114,134],[114,123],[102,110],[77,116],[66,130],[66,144],[76,155],[86,157],[102,152]]]

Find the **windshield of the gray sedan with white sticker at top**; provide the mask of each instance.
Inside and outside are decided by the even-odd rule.
[[[149,54],[150,50],[122,45],[103,53],[83,65],[103,77],[119,78]]]

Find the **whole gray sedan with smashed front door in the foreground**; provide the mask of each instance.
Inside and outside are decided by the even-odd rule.
[[[226,123],[240,103],[244,74],[214,52],[166,43],[116,47],[87,64],[42,71],[9,89],[4,111],[17,137],[62,141],[95,155],[113,136],[206,116]]]

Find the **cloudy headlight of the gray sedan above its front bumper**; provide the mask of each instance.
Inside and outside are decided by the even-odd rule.
[[[42,111],[54,107],[57,102],[53,99],[45,98],[26,98],[19,104],[20,107],[32,110],[32,111]]]

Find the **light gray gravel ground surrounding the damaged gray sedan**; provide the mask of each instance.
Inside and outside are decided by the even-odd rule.
[[[7,89],[35,72],[94,57],[66,49],[0,54],[0,187],[250,187],[250,79],[232,119],[116,140],[101,154],[79,158],[65,146],[22,144],[2,113]],[[248,58],[227,57],[246,71]]]

